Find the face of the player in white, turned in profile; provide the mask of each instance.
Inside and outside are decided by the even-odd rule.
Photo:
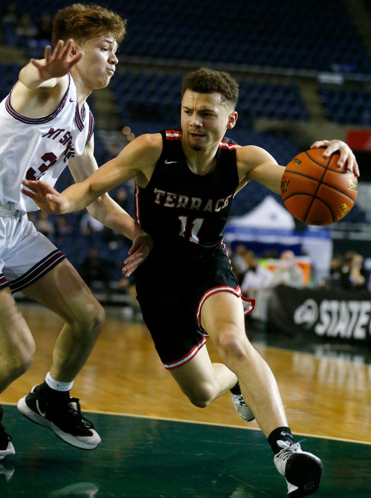
[[[81,47],[84,57],[77,69],[86,86],[91,90],[105,88],[115,73],[117,42],[110,35],[96,36],[85,41]]]

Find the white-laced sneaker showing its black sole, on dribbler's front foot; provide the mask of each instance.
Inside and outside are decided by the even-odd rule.
[[[318,490],[323,474],[321,460],[307,451],[299,443],[290,445],[287,441],[277,441],[282,448],[274,455],[278,472],[284,476],[288,488],[288,497],[302,498]]]

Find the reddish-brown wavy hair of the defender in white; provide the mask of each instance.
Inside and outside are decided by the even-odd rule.
[[[66,42],[72,38],[81,43],[105,34],[110,34],[120,44],[126,34],[126,19],[95,3],[68,5],[58,10],[53,19],[54,46],[58,40]]]

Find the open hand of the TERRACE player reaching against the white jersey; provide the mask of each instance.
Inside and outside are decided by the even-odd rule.
[[[65,212],[69,202],[48,183],[40,180],[22,180],[22,185],[28,190],[21,188],[25,196],[33,200],[40,209],[51,215],[60,215]]]

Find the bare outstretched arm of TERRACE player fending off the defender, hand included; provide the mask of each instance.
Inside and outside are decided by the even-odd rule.
[[[146,187],[162,152],[160,133],[145,134],[130,142],[120,154],[103,164],[86,180],[70,185],[62,193],[43,181],[23,180],[21,192],[50,214],[67,214],[89,206],[101,195],[131,178]]]

